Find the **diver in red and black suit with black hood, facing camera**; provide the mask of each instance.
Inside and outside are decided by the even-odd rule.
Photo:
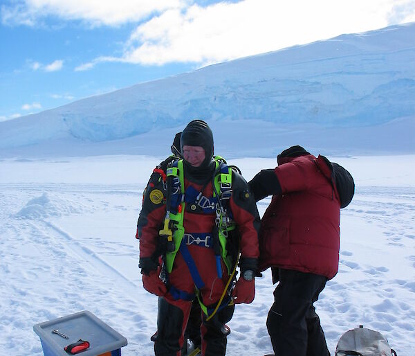
[[[223,159],[213,157],[207,123],[195,120],[185,127],[181,154],[183,159],[166,172],[154,170],[138,218],[142,283],[160,296],[154,352],[181,355],[197,295],[204,310],[202,355],[225,355],[225,323],[232,318],[234,303],[251,303],[255,296],[259,213],[246,181]],[[233,230],[224,231],[223,226]],[[237,260],[230,256],[234,231],[241,275],[230,292]]]

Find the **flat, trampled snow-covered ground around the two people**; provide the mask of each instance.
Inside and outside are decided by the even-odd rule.
[[[318,153],[318,152],[313,152]],[[356,181],[342,211],[340,272],[317,312],[331,353],[343,332],[382,332],[415,355],[415,155],[330,157]],[[33,325],[89,310],[128,339],[122,355],[151,355],[157,297],[142,288],[136,220],[160,157],[0,160],[1,355],[42,355]],[[246,179],[275,159],[235,159]],[[269,199],[259,202],[261,215]],[[227,355],[272,351],[270,273],[228,324]]]

